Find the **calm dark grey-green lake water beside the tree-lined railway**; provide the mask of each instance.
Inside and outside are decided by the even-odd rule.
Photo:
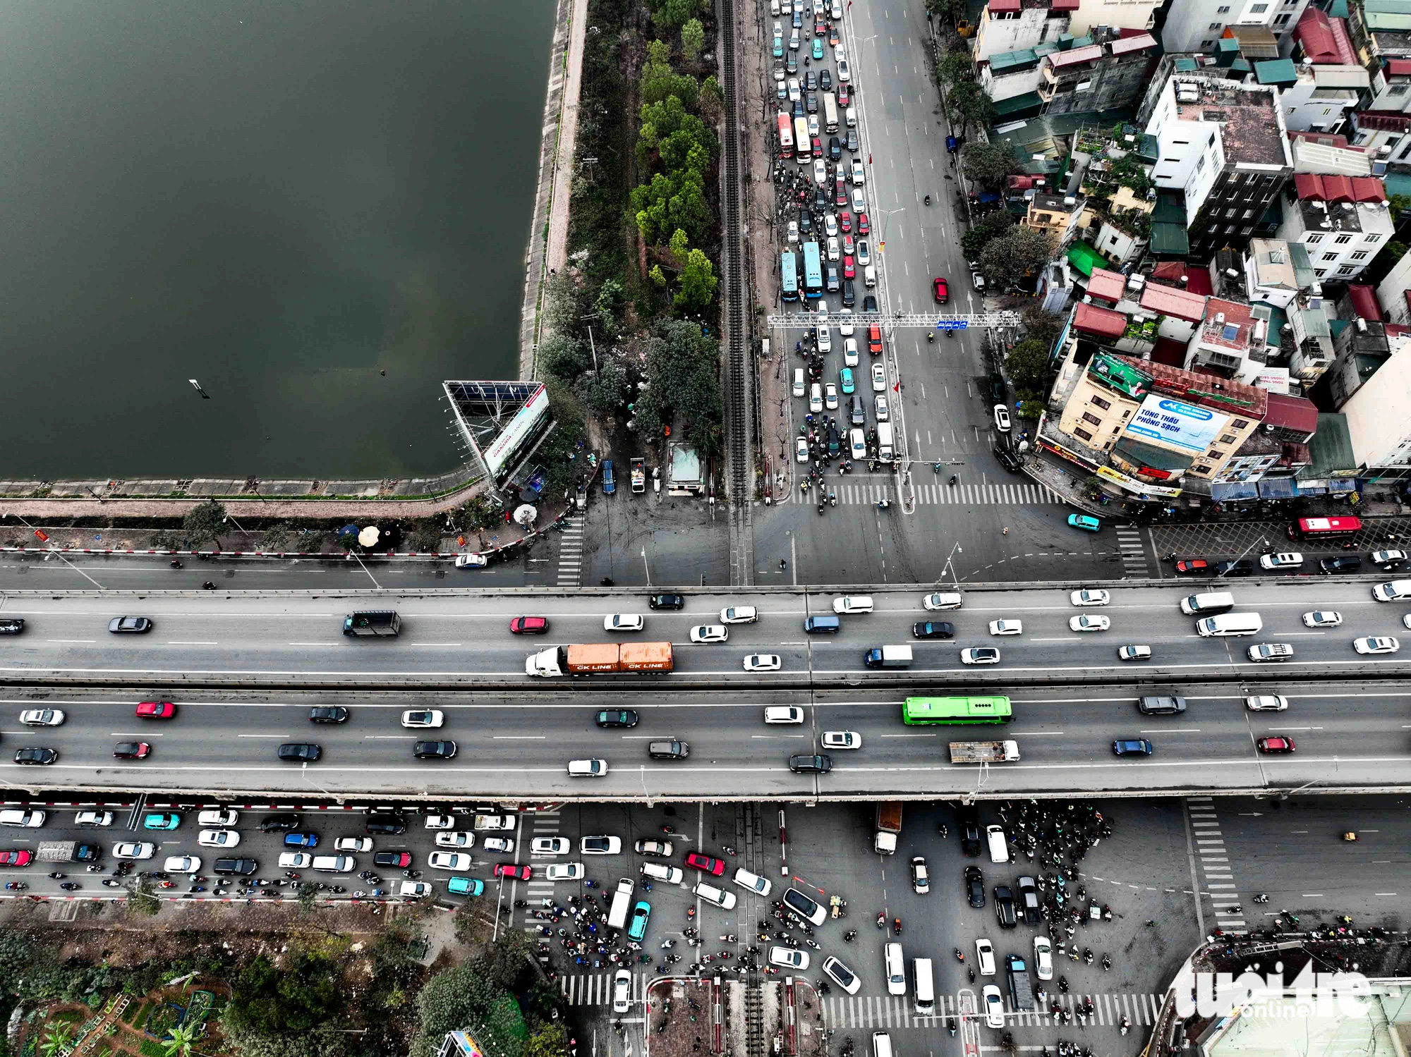
[[[0,474],[452,468],[442,379],[518,373],[553,10],[0,0]]]

